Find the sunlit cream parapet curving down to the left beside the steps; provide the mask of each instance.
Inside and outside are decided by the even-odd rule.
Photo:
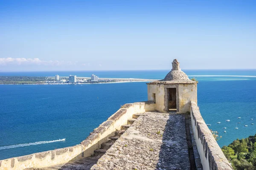
[[[64,164],[71,160],[92,156],[94,150],[99,149],[101,144],[114,136],[116,130],[127,123],[134,114],[154,111],[155,103],[136,102],[123,105],[116,113],[94,129],[90,135],[80,144],[71,147],[64,147],[56,150],[49,150],[31,155],[20,156],[0,160],[0,170],[23,170],[26,168],[42,168]]]

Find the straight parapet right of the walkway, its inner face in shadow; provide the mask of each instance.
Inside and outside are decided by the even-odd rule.
[[[191,124],[204,170],[233,170],[201,116],[196,102],[191,101]]]

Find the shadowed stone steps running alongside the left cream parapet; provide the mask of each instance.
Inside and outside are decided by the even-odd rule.
[[[93,164],[96,164],[98,159],[104,155],[107,150],[116,142],[117,139],[127,130],[134,121],[142,114],[134,114],[132,119],[127,120],[127,125],[122,125],[121,130],[115,131],[115,136],[111,136],[105,143],[101,144],[101,147],[94,150],[93,156],[82,158],[76,161],[70,161],[66,164],[56,165],[54,167],[40,168],[40,170],[90,170]],[[38,169],[39,170],[39,169]]]

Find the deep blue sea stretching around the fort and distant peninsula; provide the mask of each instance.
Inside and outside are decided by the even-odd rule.
[[[163,79],[169,71],[0,72],[0,76]],[[256,70],[186,71],[188,75],[256,76]],[[256,77],[197,77],[198,106],[220,146],[256,133]],[[121,105],[147,100],[145,82],[87,85],[0,85],[0,159],[79,144]],[[237,119],[241,117],[241,119]],[[225,122],[230,119],[230,122]],[[253,120],[250,120],[253,119]],[[217,124],[221,122],[221,124]],[[239,129],[235,129],[236,123]],[[255,125],[250,125],[254,123]],[[244,127],[248,125],[248,127]],[[224,133],[223,127],[227,127]],[[61,142],[5,149],[14,144]],[[19,145],[21,146],[21,145]]]

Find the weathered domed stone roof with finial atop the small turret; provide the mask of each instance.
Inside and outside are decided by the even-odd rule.
[[[170,71],[166,77],[162,80],[150,82],[148,84],[196,84],[195,81],[189,79],[189,77],[180,70],[180,63],[177,59],[172,62],[172,71]]]

